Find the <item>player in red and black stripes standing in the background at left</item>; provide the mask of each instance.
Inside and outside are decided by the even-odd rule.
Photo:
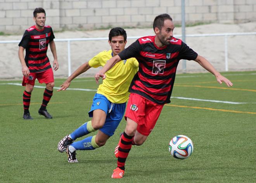
[[[45,25],[45,10],[43,8],[36,8],[33,15],[35,25],[24,32],[21,42],[19,43],[19,60],[21,62],[23,74],[22,86],[25,86],[25,91],[23,93],[24,120],[33,119],[29,113],[29,104],[36,79],[40,83],[46,84],[43,93],[43,102],[38,113],[45,116],[45,118],[52,118],[46,110],[46,106],[52,97],[54,87],[54,74],[49,58],[46,55],[48,45],[50,45],[54,57],[54,70],[59,68],[56,46],[54,43],[54,33],[52,27]],[[25,49],[26,56],[24,57]]]

